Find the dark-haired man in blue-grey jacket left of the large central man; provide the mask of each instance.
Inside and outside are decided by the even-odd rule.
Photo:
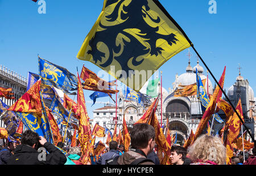
[[[101,158],[99,159],[99,161],[97,162],[97,164],[101,164],[101,165],[105,165],[106,164],[106,160],[109,160],[110,158],[119,156],[119,152],[117,151],[117,141],[110,141],[109,143],[109,152],[106,152],[104,154],[102,154]]]

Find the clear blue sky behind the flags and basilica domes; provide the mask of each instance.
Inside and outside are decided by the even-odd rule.
[[[104,1],[45,1],[46,14],[38,14],[39,5],[31,0],[0,0],[0,64],[26,77],[28,71],[38,73],[39,54],[73,74],[76,74],[76,67],[80,73],[83,64],[96,73],[100,71],[93,63],[81,61],[76,55],[96,22]],[[217,80],[226,66],[224,88],[229,88],[236,81],[240,63],[241,75],[249,80],[255,91],[256,1],[216,0],[217,14],[209,14],[208,2],[160,0],[187,33]],[[165,89],[172,86],[176,73],[185,72],[187,52],[181,51],[159,68],[163,71]],[[196,54],[192,49],[191,52],[193,67]],[[209,79],[214,85],[214,80],[210,76]],[[92,92],[84,93],[86,101],[89,101]],[[110,100],[104,97],[97,101]],[[91,108],[91,105],[86,102],[90,118],[93,109],[103,106],[96,104]]]

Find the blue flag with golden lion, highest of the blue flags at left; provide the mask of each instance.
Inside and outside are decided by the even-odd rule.
[[[42,58],[38,58],[38,62],[39,75],[43,84],[54,86],[67,94],[72,94],[69,91],[77,89],[77,77],[66,68],[57,66]]]

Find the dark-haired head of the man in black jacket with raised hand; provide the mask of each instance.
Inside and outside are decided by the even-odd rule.
[[[39,140],[40,137],[36,132],[27,130],[22,134],[21,144],[29,145],[30,147],[37,149]]]

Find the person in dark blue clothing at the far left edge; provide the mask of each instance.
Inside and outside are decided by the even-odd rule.
[[[10,157],[13,156],[13,151],[16,148],[16,141],[8,138],[6,140],[6,147],[0,151],[0,165],[6,165]]]

